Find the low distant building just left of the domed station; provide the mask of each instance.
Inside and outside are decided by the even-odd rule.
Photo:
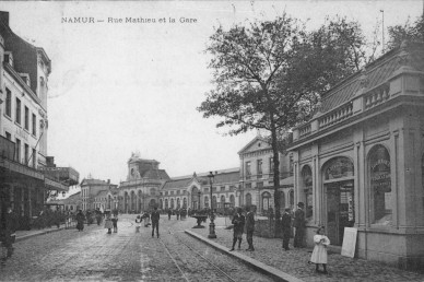
[[[83,211],[95,210],[106,207],[108,203],[108,192],[118,186],[110,184],[110,180],[84,178],[81,184],[81,209]]]

